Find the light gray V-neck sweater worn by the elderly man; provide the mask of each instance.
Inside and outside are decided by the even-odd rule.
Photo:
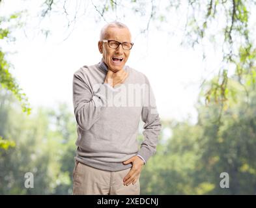
[[[121,85],[104,83],[107,66],[101,60],[74,73],[73,104],[77,122],[76,161],[94,168],[118,171],[130,168],[123,161],[139,155],[147,162],[156,152],[162,127],[147,77],[124,66],[128,77]],[[143,120],[144,139],[137,133]]]

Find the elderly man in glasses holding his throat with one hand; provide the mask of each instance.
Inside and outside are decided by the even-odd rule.
[[[98,42],[102,60],[74,73],[73,194],[140,194],[141,169],[156,152],[161,123],[149,80],[125,65],[133,45],[126,25],[109,23]]]

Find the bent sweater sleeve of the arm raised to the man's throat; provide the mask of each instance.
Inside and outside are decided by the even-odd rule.
[[[110,93],[109,93],[110,91]],[[73,105],[76,122],[82,130],[89,130],[100,118],[107,106],[107,96],[111,96],[111,86],[100,83],[98,90],[93,92],[85,83],[83,74],[78,71],[73,77]]]

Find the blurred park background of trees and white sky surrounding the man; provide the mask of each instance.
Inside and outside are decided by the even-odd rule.
[[[253,0],[0,0],[0,194],[72,194],[72,78],[111,21],[162,120],[141,194],[256,194]]]

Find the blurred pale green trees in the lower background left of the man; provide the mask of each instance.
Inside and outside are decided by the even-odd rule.
[[[0,99],[0,123],[5,123],[0,135],[16,143],[0,148],[0,193],[72,194],[76,123],[66,105],[27,116],[11,94],[1,94]],[[24,187],[26,172],[34,174],[34,188]]]

